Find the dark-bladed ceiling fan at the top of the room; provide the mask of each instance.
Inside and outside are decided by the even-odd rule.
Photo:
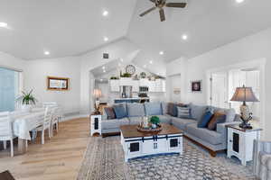
[[[186,3],[166,3],[166,0],[150,0],[152,3],[154,3],[154,7],[146,10],[144,13],[139,14],[140,17],[145,16],[146,14],[151,13],[155,9],[159,9],[160,14],[160,21],[165,21],[165,15],[164,15],[164,6],[165,7],[175,7],[175,8],[184,8],[186,7]]]

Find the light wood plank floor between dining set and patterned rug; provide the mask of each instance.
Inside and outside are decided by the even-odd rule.
[[[88,145],[89,119],[61,122],[59,132],[46,137],[44,145],[38,137],[21,156],[0,151],[0,172],[9,170],[16,180],[76,179]]]

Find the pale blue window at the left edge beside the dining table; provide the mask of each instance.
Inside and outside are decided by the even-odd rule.
[[[15,109],[15,99],[19,94],[20,72],[0,67],[0,112]]]

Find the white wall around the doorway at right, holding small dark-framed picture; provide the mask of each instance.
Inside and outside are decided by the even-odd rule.
[[[264,139],[271,140],[271,28],[257,32],[244,39],[234,41],[218,49],[211,50],[201,56],[191,58],[187,61],[187,78],[183,91],[187,93],[187,101],[192,103],[207,103],[207,82],[206,71],[211,68],[225,67],[236,63],[248,62],[255,59],[266,58],[265,70],[265,92],[266,92],[266,112],[262,125],[264,128]],[[178,66],[178,64],[176,64]],[[172,67],[174,67],[172,65]],[[173,69],[175,69],[174,67]],[[167,68],[171,71],[171,67]],[[192,94],[189,92],[189,82],[191,80],[203,80],[203,92]],[[266,117],[266,118],[265,118]]]

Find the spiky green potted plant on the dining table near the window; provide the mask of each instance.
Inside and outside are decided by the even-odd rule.
[[[30,112],[31,108],[34,104],[36,104],[37,99],[33,96],[33,90],[26,93],[22,91],[22,94],[19,98],[17,98],[17,101],[22,103],[22,110],[23,112]]]

